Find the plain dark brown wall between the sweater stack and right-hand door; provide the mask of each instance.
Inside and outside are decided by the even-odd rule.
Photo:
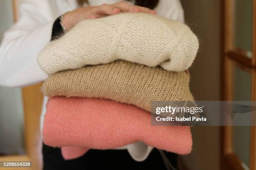
[[[220,100],[220,0],[181,0],[185,21],[200,39],[190,69],[195,100]],[[220,127],[192,127],[193,151],[183,156],[189,170],[220,169]]]

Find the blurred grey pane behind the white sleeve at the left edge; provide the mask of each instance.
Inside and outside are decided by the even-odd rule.
[[[12,25],[12,1],[1,0],[0,41]],[[0,86],[0,155],[24,153],[23,122],[21,89]]]

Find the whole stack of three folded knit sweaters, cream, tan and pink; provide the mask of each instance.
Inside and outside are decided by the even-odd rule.
[[[151,101],[191,101],[197,37],[184,24],[122,13],[84,20],[38,56],[49,74],[43,138],[65,159],[137,141],[190,153],[188,126],[151,126]]]

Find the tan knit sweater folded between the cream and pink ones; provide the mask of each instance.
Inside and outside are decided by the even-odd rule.
[[[51,75],[42,91],[48,97],[100,97],[151,111],[152,101],[191,101],[189,74],[128,61],[64,70]]]

